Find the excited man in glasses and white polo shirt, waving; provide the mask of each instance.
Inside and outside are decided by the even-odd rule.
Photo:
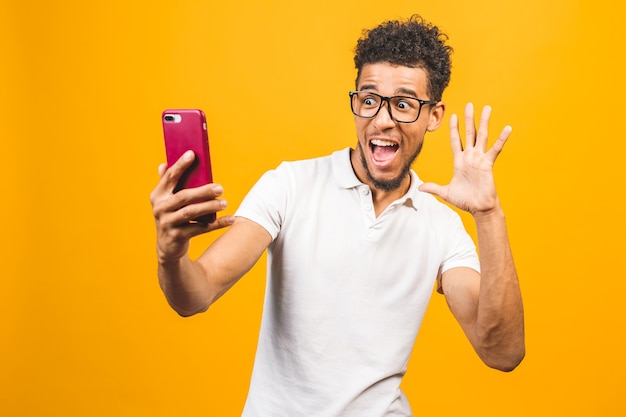
[[[464,146],[450,118],[450,184],[423,183],[410,169],[443,120],[445,41],[419,17],[367,32],[350,92],[355,149],[281,164],[235,217],[190,222],[225,208],[222,187],[172,193],[189,153],[160,167],[151,195],[159,281],[179,314],[208,309],[268,249],[244,416],[410,416],[399,386],[435,282],[488,366],[510,371],[522,360],[522,300],[492,171],[510,127],[487,149],[490,109],[476,132],[469,104]],[[472,214],[480,261],[459,216],[431,194]],[[189,258],[191,237],[225,226]]]

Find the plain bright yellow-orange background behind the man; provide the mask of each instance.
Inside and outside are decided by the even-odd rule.
[[[0,413],[239,415],[264,262],[207,314],[167,307],[148,202],[160,112],[205,110],[232,212],[281,161],[355,144],[355,41],[412,13],[455,48],[448,116],[471,100],[493,106],[494,135],[514,128],[496,175],[528,351],[486,368],[434,297],[404,382],[414,412],[625,415],[626,31],[608,0],[3,1]],[[415,168],[449,179],[447,122]]]

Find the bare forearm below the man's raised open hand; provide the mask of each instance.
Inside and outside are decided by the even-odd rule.
[[[499,205],[474,218],[481,265],[477,350],[491,366],[511,370],[525,353],[524,311],[506,220]]]

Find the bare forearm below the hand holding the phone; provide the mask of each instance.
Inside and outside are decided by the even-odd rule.
[[[201,313],[211,305],[213,297],[206,273],[187,255],[174,262],[159,262],[158,275],[167,301],[181,316]]]

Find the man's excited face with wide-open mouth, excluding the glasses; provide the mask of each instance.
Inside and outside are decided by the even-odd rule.
[[[426,72],[421,68],[367,64],[361,70],[357,89],[387,97],[402,95],[429,100],[426,81]],[[357,177],[380,191],[406,192],[409,169],[422,149],[424,135],[439,127],[443,113],[442,102],[424,105],[415,122],[398,123],[384,103],[372,119],[354,116],[358,144],[352,153],[352,167]]]

